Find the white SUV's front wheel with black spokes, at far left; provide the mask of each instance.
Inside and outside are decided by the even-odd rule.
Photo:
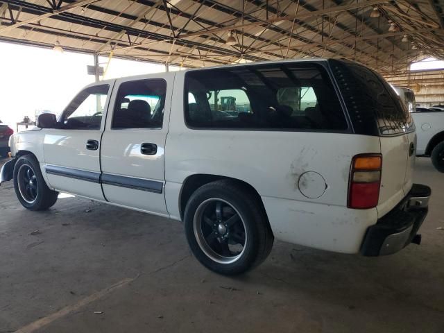
[[[15,162],[14,189],[20,203],[28,210],[47,210],[58,198],[58,192],[46,185],[40,165],[32,155],[19,157]]]

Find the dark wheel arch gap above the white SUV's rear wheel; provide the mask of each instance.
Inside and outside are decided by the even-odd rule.
[[[187,202],[191,195],[198,189],[199,187],[208,184],[210,182],[214,182],[216,180],[230,180],[234,184],[239,185],[241,187],[244,187],[247,189],[257,200],[257,202],[260,204],[261,209],[263,210],[265,216],[266,210],[264,206],[264,202],[262,201],[261,196],[259,195],[259,192],[253,187],[252,185],[248,184],[248,182],[244,182],[244,180],[240,180],[237,178],[227,177],[227,176],[220,176],[220,175],[213,175],[209,173],[196,173],[194,175],[188,176],[185,178],[184,182],[182,183],[182,188],[180,189],[179,194],[179,212],[180,212],[180,219],[183,220],[183,214],[185,212],[185,207],[187,205]],[[267,216],[268,220],[268,216]]]

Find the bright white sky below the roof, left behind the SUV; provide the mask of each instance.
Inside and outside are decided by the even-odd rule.
[[[108,57],[99,57],[102,67],[107,62]],[[94,82],[94,76],[87,75],[94,58],[87,54],[0,42],[0,64],[0,120],[14,130],[25,116],[34,120],[42,110],[58,114]],[[164,65],[112,58],[105,79],[163,71]]]

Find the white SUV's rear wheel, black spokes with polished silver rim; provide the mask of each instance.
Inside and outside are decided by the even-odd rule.
[[[198,261],[216,273],[244,273],[266,259],[273,233],[262,204],[241,185],[217,180],[198,188],[184,214],[185,233]]]

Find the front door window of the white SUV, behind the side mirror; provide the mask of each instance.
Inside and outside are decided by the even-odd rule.
[[[95,85],[80,92],[62,113],[61,128],[99,130],[109,85]]]

